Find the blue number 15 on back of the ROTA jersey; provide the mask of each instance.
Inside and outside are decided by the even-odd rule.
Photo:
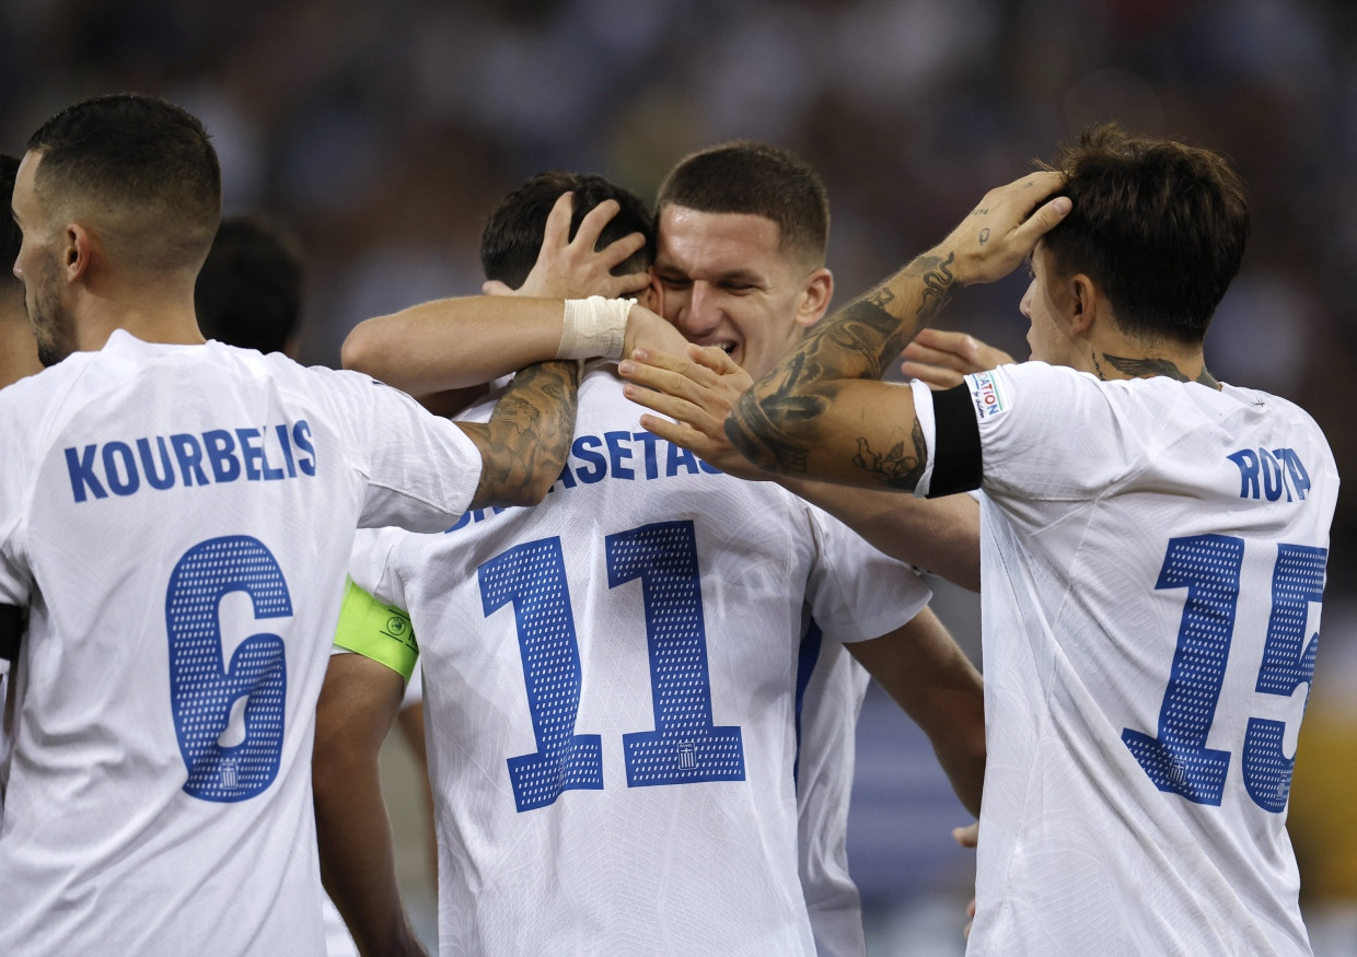
[[[1322,548],[1277,546],[1272,614],[1255,691],[1291,697],[1314,678],[1319,633],[1307,638],[1305,615],[1311,602],[1323,599],[1327,558],[1329,550]],[[1225,679],[1243,561],[1242,538],[1193,535],[1168,542],[1155,587],[1186,588],[1187,600],[1159,709],[1159,733],[1121,732],[1156,788],[1194,804],[1219,807],[1225,790],[1229,751],[1208,748],[1206,736]],[[1244,735],[1244,789],[1254,804],[1274,813],[1286,809],[1295,767],[1295,759],[1282,751],[1285,733],[1281,721],[1251,717]]]

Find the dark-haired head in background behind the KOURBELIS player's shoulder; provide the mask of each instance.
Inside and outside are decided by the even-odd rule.
[[[281,352],[301,319],[301,255],[261,218],[227,217],[193,290],[198,328],[228,346]]]

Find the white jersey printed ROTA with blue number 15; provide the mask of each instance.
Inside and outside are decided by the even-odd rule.
[[[1285,820],[1323,434],[1229,385],[1037,362],[966,382],[988,727],[968,953],[1308,954]]]

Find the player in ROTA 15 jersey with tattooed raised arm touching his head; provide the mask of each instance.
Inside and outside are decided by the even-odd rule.
[[[769,469],[984,491],[972,953],[1310,953],[1285,816],[1338,476],[1308,415],[1206,370],[1247,230],[1219,156],[1087,130],[727,423]],[[957,286],[1029,253],[1033,362],[875,381]]]

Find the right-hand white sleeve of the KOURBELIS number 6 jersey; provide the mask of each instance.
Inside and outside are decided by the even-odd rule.
[[[358,525],[442,531],[471,504],[480,483],[480,450],[446,419],[398,389],[357,373],[345,375],[354,461],[366,481]]]

